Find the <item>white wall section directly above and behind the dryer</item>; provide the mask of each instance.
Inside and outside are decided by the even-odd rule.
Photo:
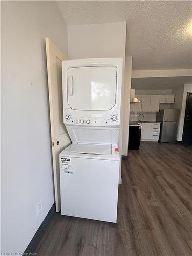
[[[121,57],[123,58],[123,83],[125,44],[126,22],[68,26],[69,58]],[[122,95],[123,93],[122,88]],[[122,138],[122,130],[119,137]],[[122,139],[119,141],[120,155],[121,148]]]

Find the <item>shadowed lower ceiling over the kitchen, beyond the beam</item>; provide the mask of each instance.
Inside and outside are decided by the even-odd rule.
[[[173,89],[192,83],[192,76],[132,78],[131,87],[142,90]]]

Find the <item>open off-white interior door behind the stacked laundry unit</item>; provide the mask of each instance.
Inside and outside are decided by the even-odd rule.
[[[51,124],[51,145],[53,158],[53,176],[55,190],[56,211],[60,211],[60,175],[59,154],[63,148],[71,143],[71,140],[63,124],[62,104],[62,61],[67,60],[63,54],[49,39],[46,38],[47,74],[49,89],[49,111]]]

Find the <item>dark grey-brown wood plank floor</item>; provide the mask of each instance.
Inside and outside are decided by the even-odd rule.
[[[117,224],[55,214],[37,255],[192,255],[192,148],[142,142],[122,161]]]

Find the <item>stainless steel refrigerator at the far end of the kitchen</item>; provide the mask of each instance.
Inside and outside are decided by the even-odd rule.
[[[160,142],[176,142],[179,109],[163,109],[157,112],[156,120],[161,122]]]

